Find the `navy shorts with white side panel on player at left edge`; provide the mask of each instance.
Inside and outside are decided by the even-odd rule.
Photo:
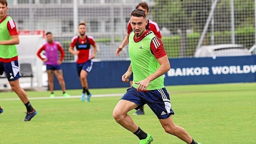
[[[15,81],[20,78],[18,60],[9,63],[0,62],[0,75],[6,73],[8,81]]]

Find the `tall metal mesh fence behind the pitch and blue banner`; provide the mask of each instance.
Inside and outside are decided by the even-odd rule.
[[[9,0],[8,14],[19,30],[51,31],[65,49],[65,61],[80,21],[99,46],[101,61],[126,60],[115,50],[126,35],[130,13],[138,0]],[[149,19],[157,22],[169,58],[193,57],[202,45],[255,44],[254,0],[147,0]]]

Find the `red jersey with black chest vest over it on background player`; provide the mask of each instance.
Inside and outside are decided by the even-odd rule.
[[[74,36],[72,38],[70,47],[74,48],[74,46],[76,46],[77,51],[79,51],[77,63],[85,63],[90,60],[90,45],[95,45],[95,40],[90,35],[86,35],[86,38],[83,40],[79,38],[79,36]]]

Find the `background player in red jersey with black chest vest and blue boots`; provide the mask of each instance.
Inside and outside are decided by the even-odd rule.
[[[90,97],[92,94],[89,92],[87,76],[91,71],[93,62],[91,59],[95,58],[95,54],[97,52],[97,45],[94,41],[94,38],[90,35],[86,35],[86,23],[80,22],[78,25],[79,36],[74,36],[72,38],[70,47],[68,51],[77,55],[77,72],[79,75],[79,79],[81,81],[81,85],[83,87],[83,92],[81,95],[81,101],[85,100],[85,92],[87,93],[86,102],[90,101]],[[90,45],[93,46],[93,53],[91,54]],[[76,46],[77,51],[74,51],[74,46]]]

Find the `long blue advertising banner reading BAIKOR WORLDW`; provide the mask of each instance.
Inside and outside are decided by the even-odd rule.
[[[171,69],[164,74],[164,84],[210,84],[256,82],[256,56],[234,56],[213,58],[172,58]],[[88,75],[89,88],[129,87],[121,81],[129,61],[94,62]],[[80,89],[76,63],[61,65],[67,89]],[[60,89],[54,78],[54,89]]]

